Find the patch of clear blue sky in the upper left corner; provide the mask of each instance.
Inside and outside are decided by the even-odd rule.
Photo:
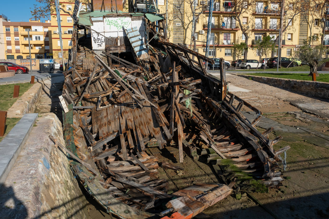
[[[4,14],[12,22],[29,21],[34,0],[1,0],[0,14]],[[47,20],[42,18],[41,20]]]

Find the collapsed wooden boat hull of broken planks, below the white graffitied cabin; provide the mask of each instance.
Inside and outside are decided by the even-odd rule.
[[[136,28],[124,29],[134,60],[112,54],[111,48],[97,55],[74,28],[61,104],[78,181],[108,212],[135,219],[191,218],[229,195],[241,172],[266,186],[280,185],[280,153],[289,146],[274,151],[281,137],[270,140],[273,128],[263,133],[255,128],[262,113],[228,92],[224,60],[220,78],[214,77],[203,65],[212,59],[169,43],[155,22],[147,25],[145,37],[153,39],[148,44]],[[242,107],[258,117],[247,120]],[[169,144],[178,147],[179,162],[183,153],[193,159],[208,156],[218,185],[167,194],[157,169],[179,167],[159,163],[147,147],[161,150]],[[187,209],[192,213],[185,214]]]

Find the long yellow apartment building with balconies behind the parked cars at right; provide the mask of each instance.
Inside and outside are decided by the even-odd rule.
[[[305,4],[308,0],[302,0]],[[227,61],[235,60],[236,56],[233,51],[234,44],[245,42],[245,35],[242,34],[240,24],[233,13],[235,5],[232,0],[215,0],[213,6],[213,15],[211,18],[211,36],[210,36],[210,57],[223,57]],[[241,2],[241,1],[239,1]],[[242,29],[245,30],[248,38],[248,55],[247,58],[259,59],[259,52],[254,48],[257,40],[262,40],[267,35],[276,38],[279,35],[281,1],[266,0],[243,1],[242,13],[239,18],[242,23]],[[294,2],[297,2],[294,0]],[[194,4],[195,3],[195,4]],[[199,17],[195,22],[196,33],[196,51],[205,55],[207,41],[207,25],[210,10],[210,1],[201,0],[158,0],[158,9],[160,14],[166,15],[168,24],[167,35],[172,43],[181,43],[190,48],[193,43],[192,38],[192,21],[193,10],[195,17]],[[142,5],[142,3],[137,2]],[[323,22],[317,13],[296,13],[294,4],[286,1],[289,10],[284,16],[284,26],[287,29],[283,32],[283,42],[281,56],[291,57],[294,55],[296,48],[303,44],[303,41],[311,35],[318,36],[320,43]],[[128,8],[126,5],[124,8]],[[329,10],[328,10],[329,11]],[[329,26],[329,22],[326,22]],[[329,44],[329,29],[327,28],[324,36],[324,44]],[[329,53],[328,53],[329,54]],[[270,54],[271,55],[271,54]],[[277,55],[277,50],[275,51]],[[263,56],[265,58],[265,55]]]

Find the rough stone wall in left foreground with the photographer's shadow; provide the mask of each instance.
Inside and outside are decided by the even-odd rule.
[[[88,218],[87,200],[49,135],[65,145],[56,115],[41,114],[1,187],[1,218]]]

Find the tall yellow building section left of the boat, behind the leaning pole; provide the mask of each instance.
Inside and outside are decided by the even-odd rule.
[[[67,0],[65,2],[60,2],[60,7],[64,11],[72,14],[74,9],[74,1]],[[51,49],[53,52],[53,58],[55,59],[62,58],[62,56],[64,59],[68,59],[69,50],[72,46],[72,33],[74,23],[70,14],[65,13],[64,11],[60,10],[61,30],[58,28],[56,11],[53,11],[51,14],[51,27],[49,28],[49,32],[52,39]],[[90,8],[83,4],[80,8],[80,12],[86,11],[90,11]],[[61,52],[59,31],[62,33],[63,54]]]

